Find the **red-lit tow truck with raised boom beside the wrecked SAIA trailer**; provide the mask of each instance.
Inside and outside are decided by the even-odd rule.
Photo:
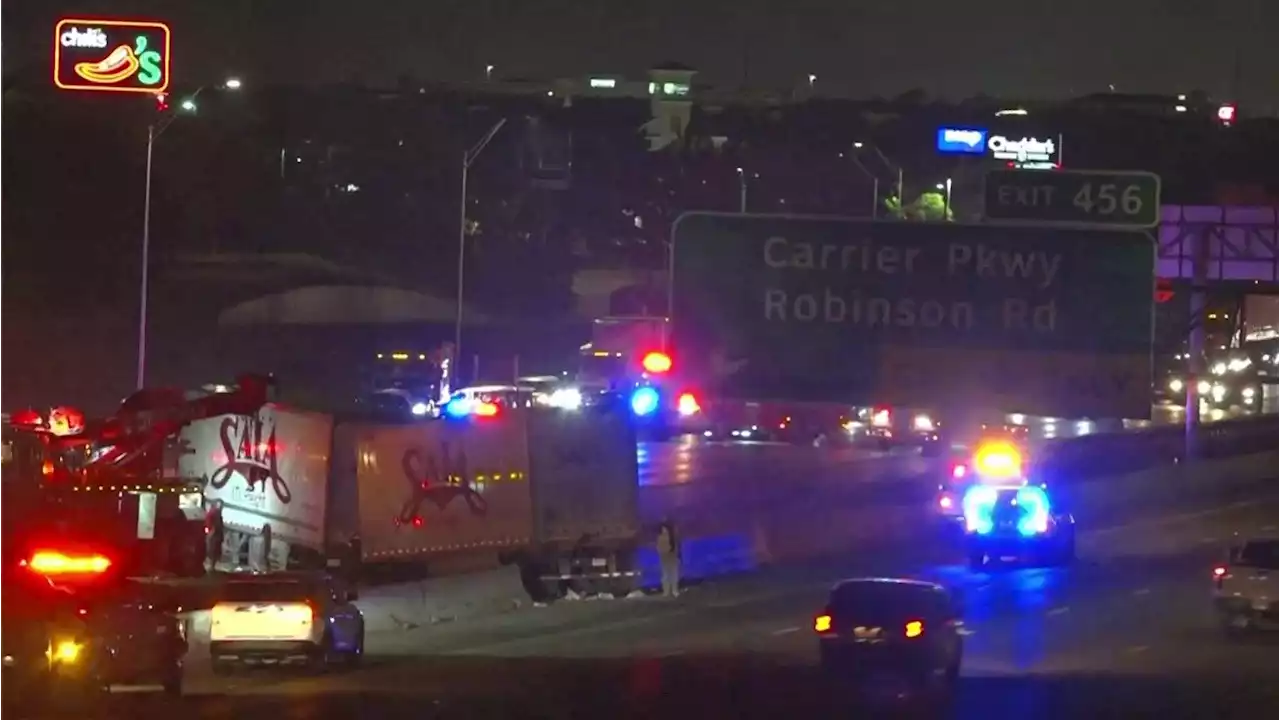
[[[244,375],[193,395],[140,389],[102,420],[73,407],[8,415],[0,423],[5,547],[35,551],[63,524],[129,577],[202,575],[204,492],[168,471],[170,441],[200,419],[256,413],[270,384]]]

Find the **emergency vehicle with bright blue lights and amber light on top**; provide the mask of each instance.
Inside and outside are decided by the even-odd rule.
[[[959,497],[970,568],[1075,560],[1075,518],[1056,505],[1046,483],[1028,477],[1014,442],[983,442],[964,475]]]

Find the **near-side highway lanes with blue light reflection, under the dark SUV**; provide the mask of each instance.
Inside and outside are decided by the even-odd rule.
[[[192,697],[125,696],[92,716],[831,717],[838,706],[809,623],[833,580],[876,574],[936,579],[961,597],[972,634],[946,716],[1280,717],[1280,641],[1229,642],[1210,614],[1211,568],[1234,532],[1280,533],[1280,497],[1089,529],[1068,569],[973,574],[954,548],[919,543],[677,600],[562,602],[379,633],[364,667],[329,675],[215,679],[197,648]]]

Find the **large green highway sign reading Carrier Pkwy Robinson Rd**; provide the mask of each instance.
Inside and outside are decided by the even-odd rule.
[[[722,397],[1151,414],[1142,231],[687,213],[676,364]]]

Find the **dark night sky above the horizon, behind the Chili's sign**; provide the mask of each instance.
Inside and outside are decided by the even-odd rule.
[[[40,61],[56,17],[168,19],[179,82],[388,86],[495,76],[639,76],[662,60],[717,86],[964,97],[1106,91],[1234,96],[1280,113],[1280,4],[1263,0],[5,0],[5,56]],[[1236,73],[1236,55],[1240,72]],[[1236,79],[1238,77],[1238,79]]]

